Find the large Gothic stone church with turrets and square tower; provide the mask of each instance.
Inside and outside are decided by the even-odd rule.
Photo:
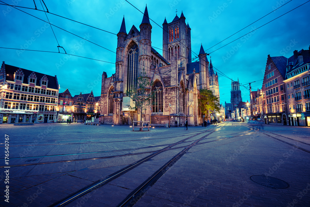
[[[209,61],[201,45],[199,61],[192,62],[191,28],[185,23],[183,12],[163,26],[163,55],[152,47],[152,25],[147,7],[137,29],[134,25],[126,31],[125,18],[117,34],[115,74],[102,74],[101,116],[102,122],[132,124],[139,121],[140,111],[133,106],[126,91],[136,83],[139,74],[145,72],[153,82],[153,105],[143,111],[143,120],[151,123],[195,126],[202,123],[198,109],[199,89],[209,89]],[[155,37],[159,38],[159,37]],[[160,121],[159,121],[160,119]],[[172,124],[171,124],[172,125]]]

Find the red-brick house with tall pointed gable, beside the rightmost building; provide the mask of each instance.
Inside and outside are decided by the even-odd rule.
[[[283,82],[286,64],[286,57],[268,55],[262,86],[265,124],[287,124],[286,89]]]

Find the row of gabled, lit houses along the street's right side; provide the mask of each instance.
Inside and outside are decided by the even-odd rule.
[[[244,112],[266,124],[310,126],[309,68],[310,47],[295,50],[289,58],[268,55],[263,86],[250,92]]]

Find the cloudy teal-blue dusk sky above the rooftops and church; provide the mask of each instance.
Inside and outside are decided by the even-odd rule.
[[[143,18],[140,11],[144,11],[145,4],[147,4],[150,19],[160,26],[165,17],[170,23],[176,15],[176,10],[179,17],[183,11],[185,21],[191,28],[192,57],[199,53],[202,43],[206,53],[210,53],[215,72],[219,73],[221,103],[225,101],[230,103],[231,80],[226,76],[233,80],[239,78],[240,83],[245,86],[248,86],[249,82],[256,81],[251,85],[252,90],[257,90],[262,87],[268,54],[290,57],[294,50],[308,49],[310,45],[310,2],[307,0],[193,2],[128,0],[140,11],[125,0],[45,0],[48,11],[59,16],[50,13],[46,16],[43,11],[20,8],[35,8],[33,1],[4,0],[3,2],[19,6],[18,9],[42,20],[47,21],[48,17],[51,24],[61,28],[52,26],[59,46],[63,47],[67,53],[96,59],[59,54],[58,43],[49,24],[13,7],[0,5],[0,47],[18,49],[0,48],[1,63],[5,61],[8,65],[52,76],[57,75],[61,87],[59,92],[64,92],[68,88],[73,96],[80,92],[89,93],[91,90],[95,96],[100,96],[103,71],[108,77],[115,73],[116,34],[120,29],[123,15],[127,33],[132,25],[139,28]],[[3,4],[3,2],[0,3]],[[39,10],[43,10],[44,7],[46,11],[46,7],[43,3],[42,7],[40,0],[35,0],[35,3]],[[305,4],[302,5],[303,3]],[[281,8],[277,9],[278,7]],[[275,9],[277,10],[274,11]],[[294,10],[290,11],[292,9]],[[288,11],[290,12],[285,14]],[[272,13],[255,22],[269,12]],[[281,16],[283,14],[285,15]],[[274,20],[277,17],[279,18]],[[157,52],[162,54],[162,28],[151,20],[152,46],[157,47],[155,48]],[[268,23],[271,20],[274,21]],[[253,22],[255,23],[250,25]],[[268,24],[264,25],[266,23]],[[250,26],[243,29],[248,25]],[[259,28],[260,26],[262,27]],[[240,29],[243,30],[228,38]],[[242,37],[249,32],[251,33]],[[225,38],[228,39],[224,40]],[[237,40],[230,43],[235,39]],[[224,41],[221,42],[222,40]],[[214,46],[215,44],[217,45]],[[228,45],[224,46],[226,44]],[[56,53],[24,51],[23,49]],[[60,52],[64,53],[64,50],[60,48]],[[210,56],[207,56],[209,61]],[[242,100],[249,100],[249,91],[245,87],[240,88]]]

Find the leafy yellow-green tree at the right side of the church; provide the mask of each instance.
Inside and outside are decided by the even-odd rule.
[[[219,97],[213,95],[212,91],[204,88],[200,89],[200,97],[198,98],[201,113],[209,119],[210,111],[220,111]]]

